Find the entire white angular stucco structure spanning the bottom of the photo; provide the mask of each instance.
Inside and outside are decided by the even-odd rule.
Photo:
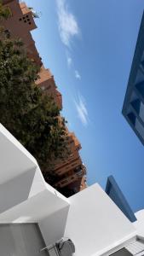
[[[0,153],[0,224],[36,222],[47,246],[71,238],[73,256],[108,255],[144,236],[144,211],[131,224],[98,184],[66,199],[45,183],[37,161],[3,125]]]

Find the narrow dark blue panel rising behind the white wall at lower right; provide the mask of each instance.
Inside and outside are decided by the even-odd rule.
[[[134,212],[126,201],[123,192],[119,189],[118,183],[116,183],[112,176],[107,178],[106,193],[131,222],[136,220]]]

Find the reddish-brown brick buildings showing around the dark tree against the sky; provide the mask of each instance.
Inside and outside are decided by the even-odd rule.
[[[10,32],[13,38],[21,38],[29,58],[40,67],[39,79],[37,86],[40,86],[44,93],[54,98],[55,104],[59,109],[62,108],[62,97],[57,90],[54,76],[49,69],[43,66],[41,57],[37,52],[35,42],[32,38],[31,31],[37,28],[34,21],[32,9],[26,6],[26,3],[19,3],[19,0],[3,0],[3,4],[8,5],[12,16],[8,20],[3,21],[5,30]],[[67,128],[66,128],[67,130]],[[55,161],[55,174],[58,181],[54,184],[55,188],[65,193],[65,190],[71,191],[67,195],[77,193],[81,189],[86,188],[86,168],[79,155],[81,145],[73,132],[67,130],[69,154],[65,160]]]

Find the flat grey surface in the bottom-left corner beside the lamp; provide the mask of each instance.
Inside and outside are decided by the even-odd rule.
[[[3,224],[0,226],[1,256],[48,256],[39,253],[45,247],[37,224]]]

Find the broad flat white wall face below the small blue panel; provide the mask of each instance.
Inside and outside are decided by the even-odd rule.
[[[98,184],[73,195],[69,201],[65,236],[76,246],[74,256],[101,255],[105,249],[135,236],[133,224]]]

